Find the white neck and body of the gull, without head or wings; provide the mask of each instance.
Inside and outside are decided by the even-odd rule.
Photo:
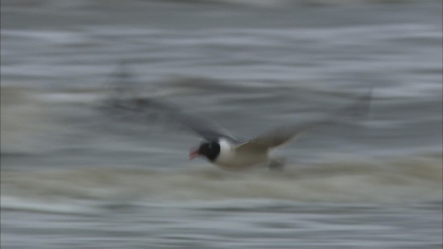
[[[243,149],[241,146],[224,138],[219,139],[220,154],[215,159],[215,165],[224,169],[244,169],[269,161],[268,149]]]

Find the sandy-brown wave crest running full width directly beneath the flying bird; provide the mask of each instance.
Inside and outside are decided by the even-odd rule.
[[[345,161],[284,172],[80,167],[1,171],[1,208],[75,212],[75,207],[164,201],[272,199],[301,203],[404,203],[442,199],[442,154],[384,162]]]

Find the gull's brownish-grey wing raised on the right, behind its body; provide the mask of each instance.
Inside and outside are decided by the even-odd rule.
[[[339,109],[333,113],[329,113],[315,121],[307,122],[305,124],[293,124],[283,127],[278,127],[266,133],[263,133],[257,138],[248,140],[237,146],[237,149],[270,149],[286,144],[299,133],[313,129],[324,124],[332,124],[334,122],[341,122],[342,120],[356,120],[356,118],[363,118],[368,116],[370,101],[372,99],[372,89],[358,98],[354,103],[345,108]]]

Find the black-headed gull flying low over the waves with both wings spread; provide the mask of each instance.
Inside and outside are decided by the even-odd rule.
[[[127,81],[129,74],[121,75],[125,77],[122,82]],[[118,89],[118,94],[121,94],[125,87],[119,84],[116,89]],[[193,131],[203,138],[203,141],[199,146],[190,149],[190,159],[206,158],[210,163],[226,170],[242,170],[264,163],[268,163],[269,169],[282,170],[284,160],[282,158],[272,158],[270,152],[273,149],[287,144],[303,131],[317,127],[320,124],[336,122],[339,119],[337,117],[367,116],[371,98],[372,87],[368,93],[361,95],[349,106],[329,113],[316,121],[305,124],[287,124],[249,140],[239,140],[213,120],[185,113],[172,104],[154,98],[136,96],[132,98],[113,98],[107,103],[111,103],[111,109],[114,111],[132,111],[133,113],[143,113],[151,118],[166,118],[175,124],[179,124],[180,127]],[[154,115],[152,115],[152,110],[155,110]]]

